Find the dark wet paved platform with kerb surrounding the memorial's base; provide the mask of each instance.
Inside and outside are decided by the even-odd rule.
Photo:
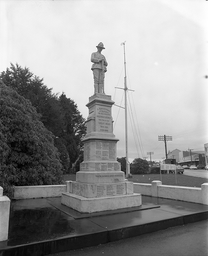
[[[43,256],[122,243],[207,219],[208,205],[149,196],[142,196],[138,207],[97,213],[79,213],[62,205],[61,197],[16,200],[11,203],[8,240],[0,242],[0,256]]]

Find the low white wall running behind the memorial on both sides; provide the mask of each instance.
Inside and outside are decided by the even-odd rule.
[[[65,181],[66,185],[15,187],[14,199],[61,196],[64,192],[72,192],[69,191],[70,182],[72,181]],[[201,188],[167,186],[162,185],[160,180],[154,180],[152,184],[134,183],[133,185],[134,193],[144,196],[162,197],[208,205],[208,183],[202,184]]]

